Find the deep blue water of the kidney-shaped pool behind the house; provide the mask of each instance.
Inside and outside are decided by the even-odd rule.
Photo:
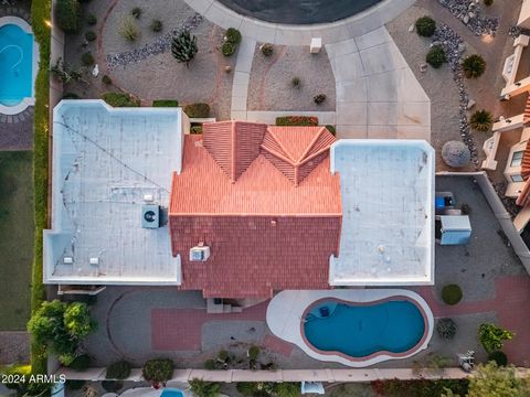
[[[322,301],[305,320],[306,339],[314,347],[356,358],[381,351],[406,352],[425,331],[421,311],[406,300],[370,305]]]

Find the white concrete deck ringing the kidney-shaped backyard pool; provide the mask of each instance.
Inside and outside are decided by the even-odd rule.
[[[356,358],[338,352],[320,352],[305,339],[301,320],[307,310],[310,310],[322,299],[333,299],[353,304],[375,304],[381,301],[393,300],[396,297],[405,298],[416,304],[425,321],[425,331],[422,340],[413,348],[402,354],[382,351],[367,357]],[[296,344],[310,357],[319,361],[336,362],[351,367],[365,367],[388,360],[411,357],[427,348],[434,330],[434,316],[427,302],[417,293],[405,289],[282,291],[268,304],[266,320],[273,334],[284,341]]]

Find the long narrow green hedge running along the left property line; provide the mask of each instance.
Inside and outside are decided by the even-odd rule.
[[[35,233],[33,264],[31,268],[31,312],[35,313],[45,299],[42,282],[42,230],[47,228],[47,175],[49,175],[49,131],[50,131],[50,43],[51,31],[45,21],[50,19],[51,0],[31,2],[31,28],[39,43],[39,72],[35,79],[35,105],[33,121],[33,208]],[[47,374],[45,346],[31,342],[32,374]]]

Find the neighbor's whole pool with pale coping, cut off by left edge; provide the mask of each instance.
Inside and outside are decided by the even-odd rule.
[[[0,18],[0,112],[15,115],[34,104],[38,51],[31,26]]]

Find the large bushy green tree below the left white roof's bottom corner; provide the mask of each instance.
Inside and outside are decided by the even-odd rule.
[[[80,302],[44,301],[28,322],[33,342],[64,365],[72,364],[81,341],[95,330],[88,308]]]

